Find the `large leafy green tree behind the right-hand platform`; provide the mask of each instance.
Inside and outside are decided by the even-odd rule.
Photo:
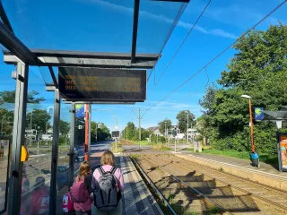
[[[287,105],[287,27],[279,23],[266,31],[253,30],[234,46],[237,53],[218,83],[205,91],[200,132],[219,150],[250,150],[248,99],[253,107],[278,110]],[[259,152],[274,153],[274,124],[254,122]]]

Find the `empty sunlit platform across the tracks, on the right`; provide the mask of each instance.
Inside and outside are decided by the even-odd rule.
[[[283,191],[287,190],[287,172],[280,172],[272,165],[263,162],[260,163],[260,168],[256,168],[250,165],[250,160],[248,159],[187,151],[173,154],[179,158],[187,159],[210,168],[222,168],[227,173],[247,178],[263,185],[273,186]]]

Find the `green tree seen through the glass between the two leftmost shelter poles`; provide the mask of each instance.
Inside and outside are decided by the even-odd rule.
[[[46,131],[46,124],[48,124],[51,116],[48,115],[46,110],[43,109],[33,109],[32,113],[28,113],[26,117],[26,127],[30,128],[30,119],[32,129]],[[39,126],[39,128],[38,128]],[[49,126],[49,125],[48,125]]]

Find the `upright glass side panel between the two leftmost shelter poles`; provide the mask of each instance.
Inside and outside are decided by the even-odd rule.
[[[54,93],[46,91],[38,67],[30,67],[23,162],[21,213],[39,214],[49,207]]]

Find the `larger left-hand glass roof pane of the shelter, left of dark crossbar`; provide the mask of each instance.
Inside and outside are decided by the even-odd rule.
[[[131,0],[5,0],[4,9],[15,35],[29,48],[131,50]]]

